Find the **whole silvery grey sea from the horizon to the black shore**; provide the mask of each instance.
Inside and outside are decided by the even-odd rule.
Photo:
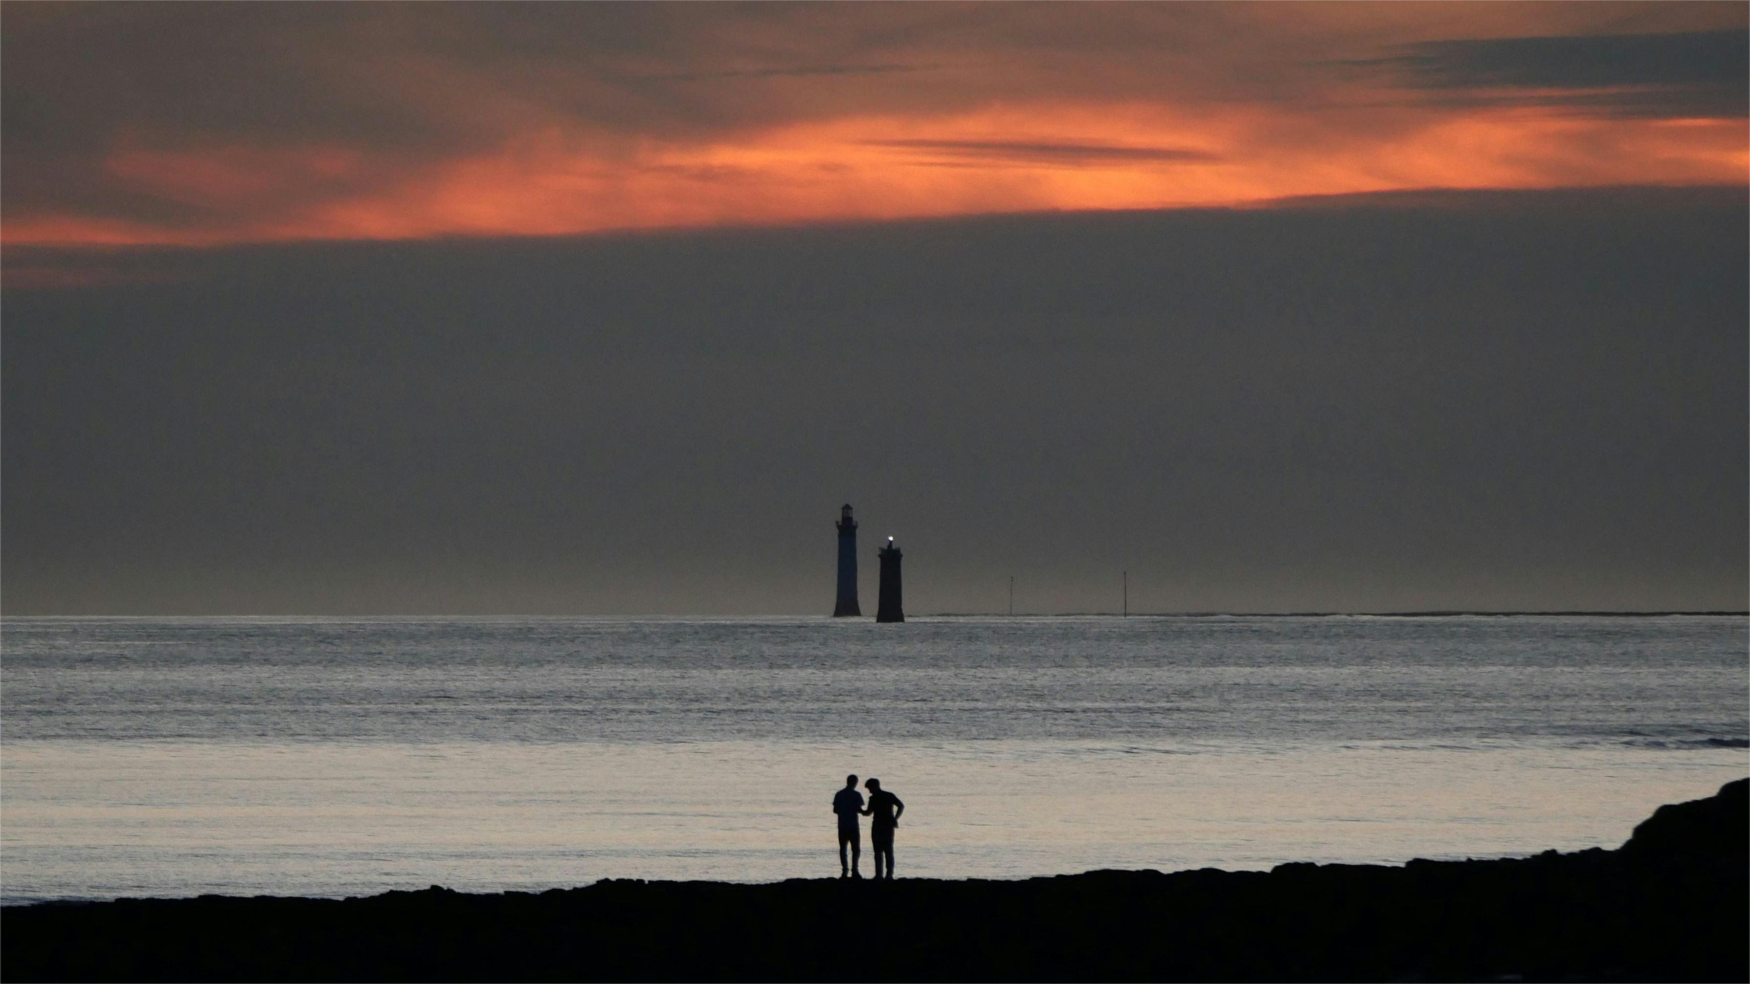
[[[4,619],[0,900],[1615,848],[1750,774],[1750,619]],[[868,858],[864,858],[868,867]]]

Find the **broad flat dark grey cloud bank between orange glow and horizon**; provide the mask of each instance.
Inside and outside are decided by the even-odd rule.
[[[4,608],[826,612],[840,502],[914,612],[1743,608],[1746,217],[10,250],[117,285],[5,292]]]

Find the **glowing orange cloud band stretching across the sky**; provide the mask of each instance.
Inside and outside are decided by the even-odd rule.
[[[497,152],[392,164],[350,149],[149,149],[108,177],[215,218],[154,225],[14,215],[5,245],[217,245],[546,236],[1031,210],[1246,204],[1404,189],[1743,184],[1745,122],[1612,119],[1554,108],[1358,107],[1312,121],[1262,108],[1027,105],[950,117],[854,117],[709,145],[604,149],[534,133]]]

